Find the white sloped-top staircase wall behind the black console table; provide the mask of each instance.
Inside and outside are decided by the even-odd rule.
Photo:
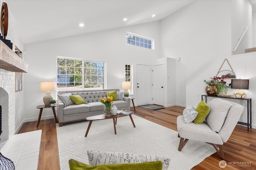
[[[218,72],[218,68],[222,65],[224,59],[228,59],[232,69],[236,74],[236,78],[249,79],[249,89],[244,90],[246,98],[252,98],[252,127],[256,128],[256,115],[255,100],[256,100],[256,52],[246,53],[239,55],[230,55],[226,57],[220,57],[213,63],[209,64],[198,75],[191,79],[186,86],[186,106],[196,107],[201,101],[201,95],[206,94],[205,88],[207,84],[203,80],[210,80],[211,76],[215,76]],[[230,70],[230,66],[225,62],[221,70]],[[228,88],[227,94],[234,95],[236,89]],[[208,98],[210,99],[210,98]],[[208,101],[207,99],[207,101]],[[210,100],[209,100],[210,101]],[[208,102],[209,102],[208,101]],[[242,104],[245,109],[247,107],[246,102],[233,99],[232,102]],[[247,113],[247,112],[246,112]],[[247,114],[242,115],[240,121],[247,122]]]

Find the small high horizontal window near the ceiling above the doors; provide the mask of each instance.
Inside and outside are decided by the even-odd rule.
[[[130,45],[135,45],[138,47],[144,47],[147,49],[154,49],[153,39],[143,37],[141,35],[129,33],[129,32],[127,32],[126,34],[126,43]]]

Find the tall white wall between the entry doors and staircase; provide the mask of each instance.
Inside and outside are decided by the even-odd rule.
[[[176,61],[176,105],[186,106],[186,82],[231,54],[231,2],[195,1],[161,21],[161,57]]]

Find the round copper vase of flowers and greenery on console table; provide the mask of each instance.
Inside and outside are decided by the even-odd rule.
[[[228,75],[222,75],[221,77],[213,77],[211,78],[211,80],[204,80],[204,82],[206,84],[208,84],[208,86],[206,86],[205,91],[209,96],[216,96],[218,94],[220,94],[221,92],[224,92],[225,94],[227,94],[228,92],[228,84],[226,84],[227,82],[224,81],[226,80],[226,78],[228,78]]]

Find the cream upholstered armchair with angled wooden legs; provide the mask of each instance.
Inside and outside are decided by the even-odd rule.
[[[202,141],[212,145],[224,159],[222,146],[232,134],[244,107],[220,98],[214,98],[208,106],[210,113],[202,124],[185,123],[183,115],[177,117],[178,137],[180,137],[178,150],[181,151],[189,139]]]

